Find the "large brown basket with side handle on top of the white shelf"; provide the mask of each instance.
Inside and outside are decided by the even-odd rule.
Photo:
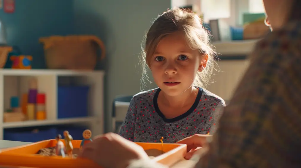
[[[93,70],[98,60],[98,47],[102,60],[104,43],[96,36],[51,36],[40,38],[44,44],[46,65],[50,69]]]

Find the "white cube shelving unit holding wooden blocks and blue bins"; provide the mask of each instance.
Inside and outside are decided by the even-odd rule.
[[[3,122],[3,114],[10,108],[10,98],[28,92],[28,80],[35,77],[38,91],[46,94],[46,120]],[[57,119],[57,88],[59,83],[89,85],[88,117]],[[104,133],[104,71],[73,70],[0,70],[0,140],[5,128],[45,125],[88,124],[93,135]],[[21,102],[21,101],[20,101]]]

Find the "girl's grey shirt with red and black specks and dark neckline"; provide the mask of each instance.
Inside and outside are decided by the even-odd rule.
[[[213,133],[218,125],[224,100],[199,88],[197,98],[184,114],[168,119],[160,111],[160,88],[138,93],[132,98],[119,134],[133,142],[176,143],[193,134]]]

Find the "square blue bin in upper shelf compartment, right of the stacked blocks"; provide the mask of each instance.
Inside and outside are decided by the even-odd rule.
[[[88,116],[89,86],[58,86],[57,118]]]

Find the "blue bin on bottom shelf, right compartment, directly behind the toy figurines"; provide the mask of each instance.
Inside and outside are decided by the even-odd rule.
[[[73,137],[73,140],[82,140],[82,132],[84,132],[87,128],[78,127],[78,126],[61,126],[57,128],[57,134],[61,134],[64,139],[64,131],[68,131],[69,134]]]

